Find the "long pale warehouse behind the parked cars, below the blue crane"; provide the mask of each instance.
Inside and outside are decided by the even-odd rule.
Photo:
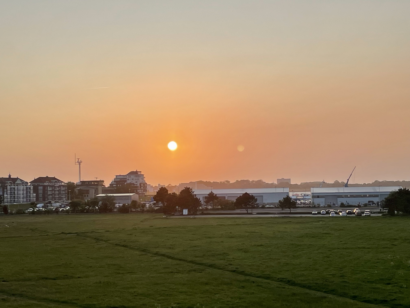
[[[312,203],[319,205],[344,204],[380,204],[389,193],[401,186],[369,186],[369,187],[312,187],[310,194]]]

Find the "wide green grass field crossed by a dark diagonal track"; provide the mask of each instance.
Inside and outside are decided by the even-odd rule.
[[[405,217],[1,216],[0,307],[410,307],[409,227]]]

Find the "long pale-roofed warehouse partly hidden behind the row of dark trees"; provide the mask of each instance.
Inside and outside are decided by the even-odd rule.
[[[258,204],[273,204],[276,205],[279,200],[289,195],[289,188],[227,188],[227,189],[212,189],[218,198],[223,200],[235,201],[240,195],[248,193],[257,198]],[[205,204],[205,197],[211,189],[195,189],[194,194]]]

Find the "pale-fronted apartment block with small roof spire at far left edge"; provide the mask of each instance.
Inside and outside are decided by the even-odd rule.
[[[33,187],[18,177],[0,177],[0,195],[3,203],[28,203],[35,201]]]

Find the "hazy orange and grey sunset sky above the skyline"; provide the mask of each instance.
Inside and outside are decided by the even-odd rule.
[[[408,181],[409,11],[1,1],[0,176],[76,182],[76,155],[106,184],[136,169],[153,185],[333,182],[354,166],[356,183]]]

